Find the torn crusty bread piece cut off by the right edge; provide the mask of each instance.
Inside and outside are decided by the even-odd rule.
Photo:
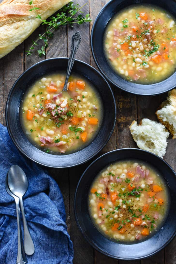
[[[176,138],[176,89],[168,93],[167,100],[161,103],[156,115],[172,134],[172,138]]]

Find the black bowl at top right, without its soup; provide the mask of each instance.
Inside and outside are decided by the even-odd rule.
[[[168,92],[176,85],[176,72],[162,82],[154,84],[138,84],[128,82],[118,76],[108,63],[104,54],[103,39],[105,28],[110,19],[121,9],[132,4],[153,4],[164,8],[176,17],[176,2],[174,0],[111,0],[98,13],[91,32],[91,50],[94,61],[101,73],[115,86],[136,95],[158,95]]]

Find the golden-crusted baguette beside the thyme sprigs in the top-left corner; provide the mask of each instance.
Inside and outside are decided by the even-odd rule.
[[[70,0],[34,0],[37,15],[46,19]],[[29,0],[4,0],[0,3],[0,58],[22,43],[41,23]]]

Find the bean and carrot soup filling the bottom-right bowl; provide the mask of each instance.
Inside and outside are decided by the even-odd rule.
[[[97,175],[88,204],[91,219],[103,235],[115,241],[141,241],[163,224],[167,187],[149,164],[118,161]]]

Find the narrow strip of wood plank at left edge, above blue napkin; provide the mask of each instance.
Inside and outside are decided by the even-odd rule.
[[[0,123],[4,123],[4,58],[0,59]]]

